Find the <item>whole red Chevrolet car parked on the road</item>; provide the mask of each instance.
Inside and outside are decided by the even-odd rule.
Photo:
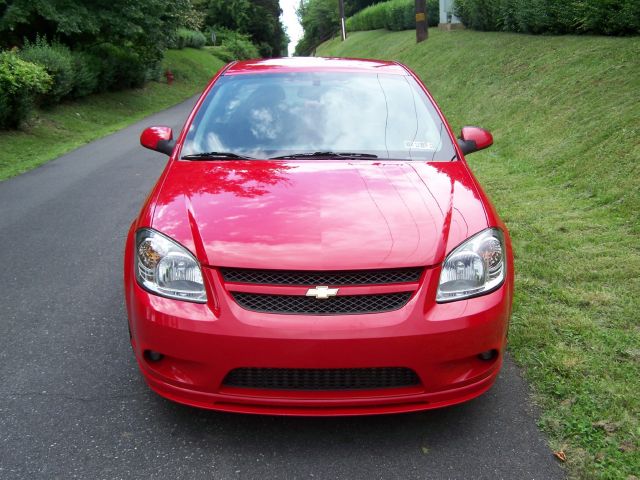
[[[230,412],[363,415],[495,381],[513,296],[507,230],[433,98],[395,62],[236,62],[213,78],[126,243],[149,386]]]

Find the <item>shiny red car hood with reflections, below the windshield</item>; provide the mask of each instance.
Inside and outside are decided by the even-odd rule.
[[[457,161],[175,161],[151,205],[154,229],[239,268],[435,265],[487,226]]]

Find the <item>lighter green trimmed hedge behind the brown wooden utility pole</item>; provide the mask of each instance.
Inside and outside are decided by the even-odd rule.
[[[427,0],[427,21],[430,27],[439,22],[438,0]],[[347,30],[410,30],[416,28],[414,0],[390,0],[360,10],[347,19]]]

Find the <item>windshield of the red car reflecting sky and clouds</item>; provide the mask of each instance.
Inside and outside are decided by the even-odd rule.
[[[183,156],[205,152],[262,159],[314,152],[422,161],[455,156],[442,120],[412,77],[334,72],[221,77],[182,149]]]

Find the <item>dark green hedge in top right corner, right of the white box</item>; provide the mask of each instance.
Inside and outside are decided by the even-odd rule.
[[[455,13],[476,30],[640,33],[639,0],[456,0]]]

